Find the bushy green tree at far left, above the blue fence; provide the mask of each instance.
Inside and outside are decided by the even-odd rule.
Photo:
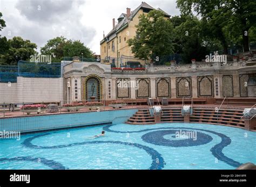
[[[15,66],[19,60],[30,60],[30,56],[37,54],[35,43],[24,40],[21,37],[14,37],[8,40],[9,49],[3,55],[4,63]]]

